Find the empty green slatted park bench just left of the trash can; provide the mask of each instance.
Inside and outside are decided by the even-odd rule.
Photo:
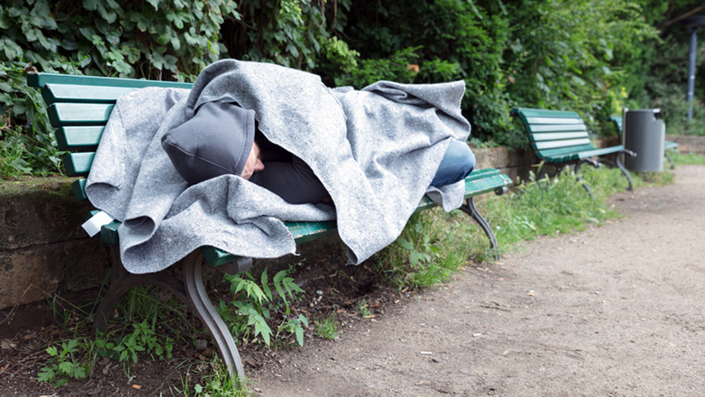
[[[584,121],[574,111],[514,108],[511,114],[521,119],[529,143],[543,163],[537,178],[552,176],[562,171],[565,166],[575,165],[575,174],[578,180],[582,181],[579,174],[582,164],[599,167],[604,163],[620,169],[629,182],[627,190],[632,190],[632,177],[624,168],[620,154],[636,154],[622,145],[594,147]],[[553,166],[554,171],[549,173],[547,166]],[[590,192],[587,183],[583,181],[582,185]]]

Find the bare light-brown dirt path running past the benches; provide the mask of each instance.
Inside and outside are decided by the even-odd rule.
[[[705,167],[613,199],[623,219],[541,238],[388,307],[368,331],[249,372],[262,396],[697,396]]]

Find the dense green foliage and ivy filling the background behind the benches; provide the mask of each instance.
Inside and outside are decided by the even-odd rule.
[[[462,79],[475,143],[525,145],[513,106],[577,111],[599,135],[613,133],[605,121],[624,106],[658,107],[668,132],[705,135],[702,79],[694,121],[685,121],[690,32],[680,23],[703,8],[697,0],[8,0],[0,175],[59,171],[25,68],[192,81],[231,57],[358,88]]]

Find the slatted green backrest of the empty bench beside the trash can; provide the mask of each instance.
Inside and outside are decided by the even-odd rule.
[[[515,108],[539,159],[594,149],[587,127],[575,111]]]

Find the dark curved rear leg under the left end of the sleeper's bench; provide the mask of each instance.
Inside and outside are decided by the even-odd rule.
[[[104,332],[108,326],[108,319],[112,317],[115,305],[120,298],[136,286],[154,285],[165,288],[176,295],[183,303],[188,303],[188,297],[183,287],[171,269],[166,269],[154,274],[131,274],[123,266],[120,259],[118,245],[110,245],[110,260],[113,264],[108,291],[98,305],[93,319],[93,333]]]

